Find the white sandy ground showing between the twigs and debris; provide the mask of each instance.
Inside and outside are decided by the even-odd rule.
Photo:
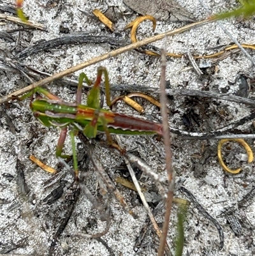
[[[182,1],[179,1],[180,3]],[[231,2],[231,3],[229,3]],[[106,10],[107,6],[118,6],[117,10],[125,11],[125,6],[122,1],[103,1],[103,3],[96,3],[93,1],[74,1],[67,0],[64,3],[64,8],[60,15],[53,19],[56,8],[45,8],[47,1],[26,1],[24,10],[25,13],[37,22],[41,22],[47,26],[48,33],[41,31],[33,31],[31,41],[27,46],[38,40],[50,40],[64,34],[59,34],[59,26],[63,22],[70,29],[71,33],[77,31],[96,31],[96,33],[110,35],[109,31],[100,32],[101,24],[95,20],[87,18],[78,9],[91,13],[94,8]],[[184,4],[184,3],[182,3]],[[207,1],[208,8],[213,12],[226,10],[227,7],[234,6],[235,1]],[[119,8],[119,9],[118,9]],[[191,11],[197,19],[205,19],[206,12],[201,7],[199,1],[192,0],[186,3],[187,10]],[[135,18],[135,15],[124,16],[119,19],[116,26],[116,31],[122,32],[123,27]],[[222,22],[227,27],[228,31],[235,36],[240,43],[254,43],[254,20],[228,20]],[[138,38],[145,38],[152,36],[150,22],[144,22],[138,30]],[[180,26],[180,23],[167,24],[165,22],[158,22],[155,33],[162,33]],[[13,27],[8,23],[1,26],[1,29],[8,29]],[[24,38],[25,39],[25,38]],[[25,43],[26,40],[22,40]],[[158,41],[154,43],[157,47],[164,47],[168,52],[192,54],[212,54],[215,51],[210,50],[212,47],[219,45],[228,45],[232,41],[226,34],[224,34],[216,24],[208,24],[207,26],[192,29],[184,34],[179,34],[173,38],[168,38],[166,41]],[[14,43],[6,43],[0,41],[1,49],[11,50]],[[24,60],[25,64],[38,68],[41,71],[48,73],[56,73],[70,66],[82,63],[93,57],[99,56],[105,52],[110,52],[111,48],[108,45],[78,45],[78,46],[64,46],[61,49],[51,50],[50,52],[42,52],[36,56],[27,57]],[[251,54],[252,52],[249,51]],[[2,54],[2,53],[1,53]],[[96,76],[96,68],[99,64],[89,66],[83,70],[87,75],[94,79]],[[113,57],[100,63],[106,66],[112,84],[139,84],[141,86],[159,86],[160,77],[160,62],[156,57],[149,57],[138,52],[132,51]],[[202,89],[203,84],[198,80],[196,73],[193,70],[188,72],[178,73],[183,68],[187,67],[186,59],[171,59],[167,63],[166,79],[170,80],[173,89]],[[229,82],[234,82],[238,73],[245,73],[249,77],[254,77],[254,67],[247,60],[244,54],[235,54],[223,61],[217,63],[219,72],[212,75],[210,88],[221,89],[229,86]],[[77,72],[76,75],[78,75]],[[19,75],[13,75],[0,71],[0,97],[11,93],[21,86],[26,84]],[[237,88],[230,86],[229,93],[234,93]],[[68,102],[75,100],[75,94],[70,93],[66,87],[51,87],[51,90]],[[252,97],[252,93],[250,97]],[[180,99],[182,100],[182,99]],[[232,118],[230,121],[235,121],[244,117],[250,112],[250,109],[245,105],[238,105],[237,103],[221,102],[226,109],[230,111]],[[85,101],[84,101],[85,103]],[[183,101],[175,99],[175,110],[179,113],[174,114],[170,118],[170,122],[175,124],[175,127],[184,129],[182,124],[182,113],[185,112]],[[135,114],[129,107],[121,105],[119,111],[128,114]],[[154,117],[159,117],[159,112],[156,108],[147,104],[146,110],[148,113],[154,113]],[[217,105],[214,107],[217,108]],[[50,179],[51,175],[36,167],[28,160],[28,156],[33,154],[43,162],[51,167],[57,168],[57,159],[55,158],[55,147],[59,135],[59,130],[55,128],[45,128],[33,117],[29,110],[29,100],[25,102],[10,102],[6,107],[6,113],[11,117],[13,124],[17,130],[16,134],[10,132],[6,125],[6,119],[1,118],[2,126],[0,126],[0,250],[4,250],[7,246],[17,245],[24,242],[11,253],[24,253],[31,255],[47,255],[52,236],[58,227],[59,219],[64,218],[65,211],[62,209],[64,204],[64,197],[68,196],[69,190],[65,190],[64,195],[60,200],[47,206],[42,204],[42,200],[52,191],[52,187],[45,189],[44,183]],[[155,114],[157,113],[157,114]],[[217,123],[214,119],[215,129],[223,126],[224,123]],[[31,140],[33,138],[33,140]],[[127,139],[128,138],[128,139]],[[78,142],[78,140],[77,140]],[[149,163],[155,170],[159,172],[164,171],[164,161],[161,156],[163,154],[163,142],[156,142],[160,150],[158,150],[147,137],[122,137],[122,142],[128,150],[136,149],[140,156]],[[208,213],[214,218],[217,218],[222,229],[224,230],[224,248],[219,250],[219,235],[214,225],[205,219],[193,205],[189,207],[187,215],[187,222],[185,225],[186,242],[184,246],[184,255],[254,255],[255,246],[254,231],[243,229],[244,235],[236,237],[230,229],[230,225],[226,223],[226,217],[221,213],[228,207],[237,209],[237,201],[251,189],[254,184],[254,163],[244,165],[244,171],[238,176],[225,175],[224,171],[219,166],[216,156],[212,156],[210,161],[204,168],[208,168],[207,183],[202,179],[194,177],[191,171],[192,162],[191,155],[194,153],[201,153],[202,144],[217,144],[215,141],[194,142],[189,140],[182,140],[176,135],[173,135],[173,167],[177,171],[177,183],[185,186],[191,191],[198,202],[207,209]],[[252,148],[254,143],[249,140]],[[27,146],[29,144],[30,146]],[[71,153],[70,141],[66,142],[65,152]],[[216,149],[215,149],[216,150]],[[105,149],[97,148],[101,162],[106,170],[110,172],[112,177],[119,175],[117,167],[119,167],[122,160],[110,154]],[[17,154],[25,165],[25,179],[29,187],[29,200],[22,199],[17,193],[17,183],[15,179],[8,181],[6,174],[16,176],[16,159]],[[163,163],[162,163],[163,162]],[[87,170],[90,177],[87,181],[87,186],[92,192],[96,191],[96,178],[93,175],[92,165]],[[65,172],[65,170],[63,170]],[[71,176],[66,177],[66,180],[71,181]],[[224,179],[226,179],[224,185]],[[149,178],[145,179],[147,186],[151,186],[152,182]],[[112,226],[109,232],[102,237],[107,245],[112,248],[114,255],[156,255],[157,246],[159,244],[155,234],[149,232],[143,244],[143,248],[138,253],[133,251],[135,238],[138,236],[140,230],[144,225],[146,213],[143,206],[138,200],[132,201],[135,192],[131,192],[126,188],[121,187],[120,191],[128,200],[129,205],[134,207],[135,213],[139,216],[138,220],[134,220],[132,216],[126,213],[119,202],[111,197],[111,207],[113,211]],[[177,192],[176,196],[184,197],[183,194]],[[17,207],[10,209],[10,206],[17,203]],[[251,229],[255,225],[255,202],[254,199],[250,201],[249,207],[244,208],[242,214],[249,220]],[[163,222],[163,212],[160,212],[156,219],[159,223]],[[58,219],[54,218],[57,216]],[[171,223],[169,231],[168,243],[170,247],[173,246],[173,239],[175,236],[175,221],[176,221],[177,207],[173,206],[171,213]],[[89,221],[95,220],[96,224],[91,228],[87,227]],[[57,226],[57,227],[56,227]],[[102,243],[93,239],[82,239],[77,235],[80,234],[84,227],[89,232],[98,232],[103,230],[105,223],[98,218],[98,213],[92,209],[91,203],[86,199],[82,193],[75,207],[75,211],[71,216],[68,225],[64,232],[59,237],[59,241],[55,246],[55,255],[110,255]],[[249,236],[248,236],[249,234]],[[189,252],[189,254],[186,254]]]

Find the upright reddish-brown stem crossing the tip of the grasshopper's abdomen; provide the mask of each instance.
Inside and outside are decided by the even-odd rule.
[[[164,225],[162,229],[162,236],[160,239],[159,250],[157,252],[158,256],[164,255],[164,248],[166,246],[166,237],[168,234],[168,225],[170,220],[171,214],[171,206],[173,204],[173,190],[175,179],[173,176],[173,169],[172,169],[172,154],[171,154],[171,141],[170,141],[170,130],[168,127],[168,113],[167,113],[167,106],[166,106],[166,52],[162,50],[161,52],[161,79],[160,79],[160,103],[161,103],[161,116],[162,116],[162,123],[163,123],[163,138],[164,138],[164,151],[166,153],[166,171],[168,173],[168,194],[166,199],[166,213],[164,215]]]

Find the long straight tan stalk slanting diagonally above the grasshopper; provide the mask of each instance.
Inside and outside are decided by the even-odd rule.
[[[27,92],[31,91],[32,89],[34,89],[38,86],[45,86],[46,84],[49,84],[50,82],[52,82],[56,79],[61,79],[62,77],[66,76],[66,75],[77,72],[78,70],[82,70],[83,68],[86,68],[87,66],[91,66],[92,64],[96,64],[96,63],[99,63],[101,61],[104,61],[105,59],[109,59],[110,57],[117,56],[117,55],[122,54],[124,52],[128,52],[129,50],[133,50],[133,49],[136,49],[136,48],[141,47],[143,45],[147,45],[148,43],[152,43],[154,41],[161,40],[166,36],[173,36],[175,34],[179,34],[179,33],[182,33],[184,31],[187,31],[191,28],[199,27],[201,25],[205,25],[205,24],[208,24],[208,23],[214,22],[214,21],[215,21],[215,19],[206,19],[206,20],[201,20],[199,22],[194,22],[194,23],[189,24],[187,26],[180,27],[179,29],[173,29],[173,30],[168,31],[166,33],[158,34],[157,36],[152,36],[150,38],[145,38],[142,41],[138,41],[136,43],[132,43],[130,45],[122,47],[120,49],[113,50],[112,52],[108,52],[108,53],[103,54],[101,56],[94,57],[93,59],[91,59],[89,61],[85,61],[84,63],[78,64],[77,66],[73,66],[71,68],[68,68],[67,70],[63,70],[59,73],[56,73],[56,74],[52,75],[51,77],[47,77],[46,79],[43,79],[43,80],[40,80],[38,82],[35,82],[34,84],[31,84],[30,86],[19,89],[18,91],[15,91],[13,93],[10,93],[10,94],[8,94],[8,95],[6,95],[6,96],[4,96],[3,98],[0,99],[0,104],[6,102],[7,100],[11,100],[13,97],[15,98],[15,97],[20,96],[24,93],[27,93]]]

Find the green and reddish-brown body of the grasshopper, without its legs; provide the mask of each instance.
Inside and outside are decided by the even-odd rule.
[[[104,120],[110,133],[121,135],[162,135],[161,124],[138,119],[105,109],[92,109],[86,105],[77,105],[54,100],[36,100],[31,103],[34,116],[45,126],[64,127],[72,124],[77,130],[84,131],[85,126],[98,116],[98,132],[105,132],[101,120]],[[86,134],[85,134],[86,135]]]

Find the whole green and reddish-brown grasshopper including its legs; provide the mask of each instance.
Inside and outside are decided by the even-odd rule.
[[[106,68],[102,66],[98,68],[96,82],[94,82],[94,86],[92,86],[91,91],[89,91],[87,105],[81,104],[82,84],[84,80],[88,85],[91,84],[85,73],[80,74],[75,103],[64,102],[61,100],[61,98],[50,93],[43,87],[38,87],[35,91],[43,94],[46,98],[36,98],[36,100],[34,100],[34,102],[31,101],[30,104],[30,108],[34,113],[34,116],[40,120],[43,125],[47,127],[56,126],[61,128],[56,150],[57,157],[69,157],[62,154],[62,149],[64,147],[68,127],[71,128],[69,134],[71,135],[73,167],[75,170],[75,179],[77,181],[78,163],[75,147],[75,135],[77,135],[78,132],[84,133],[84,135],[88,138],[96,137],[98,132],[105,132],[109,144],[112,144],[110,133],[120,135],[163,134],[163,127],[160,123],[154,123],[152,121],[101,109],[99,103],[99,94],[102,75],[105,76],[106,103],[110,107],[110,84],[108,72]],[[32,96],[35,91],[25,94],[25,96],[22,96],[21,99],[23,100],[28,96]]]

